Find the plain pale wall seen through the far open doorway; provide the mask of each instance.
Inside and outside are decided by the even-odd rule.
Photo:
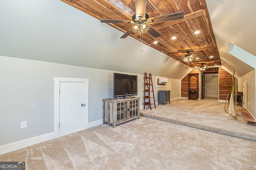
[[[205,89],[207,97],[218,98],[218,73],[205,74]]]

